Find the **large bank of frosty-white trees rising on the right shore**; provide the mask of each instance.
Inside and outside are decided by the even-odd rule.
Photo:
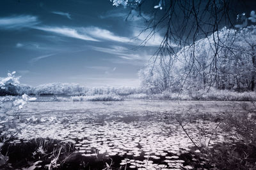
[[[256,26],[239,31],[225,27],[218,34],[196,41],[195,46],[185,46],[174,57],[166,57],[142,69],[142,85],[153,94],[210,87],[255,90],[255,48]]]

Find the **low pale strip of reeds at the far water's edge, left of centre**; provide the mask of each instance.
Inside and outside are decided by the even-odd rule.
[[[124,100],[120,96],[115,94],[104,94],[104,95],[94,95],[94,96],[72,96],[72,101],[122,101]]]

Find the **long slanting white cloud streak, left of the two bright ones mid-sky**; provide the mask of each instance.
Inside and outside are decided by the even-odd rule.
[[[52,32],[55,34],[60,34],[61,36],[67,36],[70,38],[83,39],[86,41],[99,41],[98,39],[92,38],[83,32],[79,32],[78,29],[69,27],[34,27],[34,29],[39,29],[46,32]]]

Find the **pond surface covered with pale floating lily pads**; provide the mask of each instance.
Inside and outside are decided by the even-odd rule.
[[[200,153],[200,150],[169,114],[182,112],[174,102],[174,108],[170,107],[170,101],[68,103],[71,106],[61,102],[29,104],[20,118],[20,124],[26,126],[12,145],[20,144],[20,139],[22,144],[33,138],[58,139],[74,144],[74,155],[70,159],[78,157],[77,161],[91,162],[90,166],[100,162],[102,169],[106,167],[105,162],[120,169],[193,169],[195,165],[204,167],[207,163],[190,153],[191,150]],[[184,106],[190,111],[195,109],[187,103],[183,103]],[[211,106],[216,108],[213,103],[201,107],[211,110]],[[221,105],[212,113],[223,108]],[[204,127],[204,134],[198,127]],[[215,122],[196,119],[186,124],[186,131],[191,138],[207,143],[215,127]],[[211,146],[225,141],[226,134],[221,129],[217,131],[218,135],[209,142]],[[82,162],[79,165],[83,167]]]

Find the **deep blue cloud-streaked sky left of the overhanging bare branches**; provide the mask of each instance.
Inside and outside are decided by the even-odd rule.
[[[161,42],[145,46],[142,18],[109,0],[1,0],[0,77],[20,83],[138,86],[138,71]],[[147,17],[147,16],[146,16]]]

